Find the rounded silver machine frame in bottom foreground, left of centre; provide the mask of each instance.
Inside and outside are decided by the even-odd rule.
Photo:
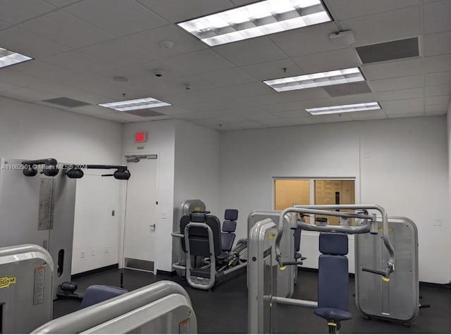
[[[156,282],[90,305],[38,327],[32,334],[197,333],[190,296],[179,284]]]

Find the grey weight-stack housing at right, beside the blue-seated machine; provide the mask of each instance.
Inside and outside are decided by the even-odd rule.
[[[376,222],[381,231],[381,218]],[[366,319],[374,317],[409,326],[420,308],[429,307],[419,303],[418,230],[407,217],[388,217],[388,234],[397,255],[396,271],[390,276],[390,282],[380,281],[364,271],[366,267],[381,266],[387,261],[383,241],[365,234],[356,236],[355,302]]]

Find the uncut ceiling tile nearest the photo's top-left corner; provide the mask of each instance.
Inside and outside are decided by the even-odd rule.
[[[113,38],[112,34],[99,30],[62,10],[34,18],[22,23],[20,27],[71,48],[82,48]]]

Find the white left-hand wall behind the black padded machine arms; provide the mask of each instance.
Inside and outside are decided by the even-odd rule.
[[[0,97],[0,156],[6,158],[56,158],[61,162],[118,164],[121,162],[122,125],[64,110]],[[82,185],[83,184],[83,185]],[[117,263],[117,222],[107,213],[119,210],[120,194],[93,198],[86,181],[78,182],[72,273]],[[101,207],[103,210],[92,210]],[[89,212],[88,212],[89,211]],[[92,215],[87,215],[91,213]],[[92,228],[99,234],[92,234]],[[111,229],[111,230],[110,230]],[[104,232],[111,239],[111,253],[101,253]],[[80,250],[85,248],[85,258]],[[90,255],[90,249],[97,253]]]

